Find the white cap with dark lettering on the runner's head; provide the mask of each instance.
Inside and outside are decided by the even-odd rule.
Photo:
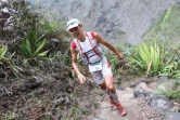
[[[79,26],[80,22],[77,18],[72,18],[67,22],[66,29],[69,30],[70,28]]]

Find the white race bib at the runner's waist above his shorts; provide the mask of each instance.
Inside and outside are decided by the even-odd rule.
[[[98,62],[98,63],[94,63],[94,64],[89,64],[90,72],[99,71],[99,70],[102,70],[102,69],[103,69],[103,67],[102,67],[102,63],[101,62]]]

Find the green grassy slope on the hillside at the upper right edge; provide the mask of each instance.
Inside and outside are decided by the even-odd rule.
[[[175,46],[180,39],[179,15],[180,6],[169,8],[146,34],[145,41],[163,40],[169,44],[168,46]]]

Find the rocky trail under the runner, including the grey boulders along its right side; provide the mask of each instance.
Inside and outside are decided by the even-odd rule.
[[[180,112],[168,110],[171,106],[170,101],[153,94],[153,90],[144,82],[133,89],[117,90],[117,93],[121,105],[128,112],[127,116],[121,117],[115,107],[111,107],[106,97],[100,102],[99,108],[85,120],[180,120]]]

